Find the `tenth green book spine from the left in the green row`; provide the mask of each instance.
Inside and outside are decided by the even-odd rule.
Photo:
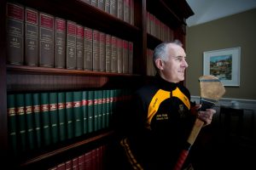
[[[83,124],[84,134],[88,133],[88,92],[83,91],[82,94],[82,111],[83,111]]]

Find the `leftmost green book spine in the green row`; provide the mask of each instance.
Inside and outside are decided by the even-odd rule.
[[[15,108],[15,94],[7,95],[7,112],[8,112],[8,129],[9,129],[9,143],[10,150],[14,156],[17,156],[17,117]]]

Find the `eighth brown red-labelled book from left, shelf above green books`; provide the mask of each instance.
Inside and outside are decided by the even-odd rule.
[[[100,71],[100,32],[93,30],[92,34],[92,70]]]

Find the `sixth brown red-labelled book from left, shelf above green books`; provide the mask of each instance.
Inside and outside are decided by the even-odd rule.
[[[76,31],[77,70],[84,70],[84,26],[77,24]]]

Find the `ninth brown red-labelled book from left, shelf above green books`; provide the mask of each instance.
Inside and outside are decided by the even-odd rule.
[[[106,71],[106,34],[100,32],[100,71]]]

